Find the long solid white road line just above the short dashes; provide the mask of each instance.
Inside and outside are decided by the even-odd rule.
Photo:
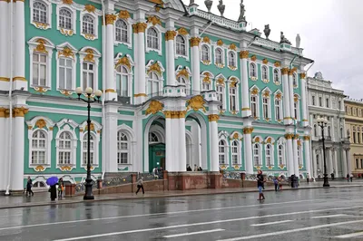
[[[87,239],[87,238],[95,238],[95,237],[103,237],[103,236],[120,236],[126,234],[133,234],[133,233],[142,233],[142,232],[150,232],[150,231],[157,231],[157,230],[164,230],[164,229],[172,229],[172,228],[180,228],[180,227],[195,227],[195,226],[203,226],[203,225],[213,225],[213,224],[221,224],[221,223],[229,223],[235,221],[242,221],[242,220],[250,220],[250,219],[258,219],[258,218],[266,218],[266,217],[281,217],[281,216],[291,216],[291,215],[298,215],[298,214],[307,214],[307,213],[315,213],[315,212],[326,212],[331,210],[341,210],[341,209],[351,209],[351,208],[361,208],[363,206],[356,206],[356,207],[335,207],[329,209],[320,209],[320,210],[309,210],[309,211],[301,211],[301,212],[292,212],[292,213],[284,213],[284,214],[271,214],[266,216],[260,217],[240,217],[240,218],[233,218],[233,219],[226,219],[226,220],[217,220],[217,221],[210,221],[210,222],[202,222],[202,223],[194,223],[194,224],[184,224],[184,225],[175,225],[175,226],[166,226],[166,227],[154,227],[154,228],[145,228],[145,229],[134,229],[134,230],[127,230],[121,232],[114,232],[114,233],[105,233],[93,236],[76,236],[64,239],[57,239],[54,241],[73,241],[73,240],[80,240],[80,239]],[[353,221],[357,222],[357,221]],[[358,222],[363,222],[358,221]],[[349,222],[344,222],[344,224],[348,224]],[[286,231],[284,231],[286,232]]]

